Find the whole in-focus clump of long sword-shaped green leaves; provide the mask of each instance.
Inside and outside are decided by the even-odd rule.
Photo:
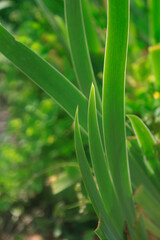
[[[157,143],[149,129],[134,115],[128,117],[136,139],[128,139],[126,144],[124,90],[129,0],[121,4],[117,0],[108,1],[102,97],[89,56],[86,26],[90,22],[84,17],[89,9],[84,7],[84,2],[64,1],[69,49],[79,88],[16,41],[2,26],[0,51],[73,119],[76,112],[75,148],[83,181],[99,218],[96,229],[99,238],[148,239],[147,230],[159,238]],[[93,36],[92,31],[90,34]],[[80,127],[88,136],[93,172],[84,151]],[[134,195],[131,181],[133,189],[138,189]]]

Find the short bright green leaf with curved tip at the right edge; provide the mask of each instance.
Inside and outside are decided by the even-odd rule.
[[[156,156],[156,142],[143,121],[135,115],[127,115],[130,119],[134,132],[136,134],[138,143],[144,153],[144,167],[149,177],[153,179],[157,189],[160,190],[159,176],[160,176],[160,163]]]

